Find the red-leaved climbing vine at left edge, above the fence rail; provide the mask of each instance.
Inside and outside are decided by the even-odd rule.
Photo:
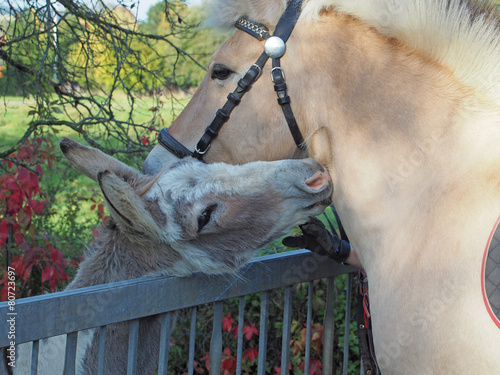
[[[54,144],[43,133],[26,141],[8,160],[0,174],[0,249],[2,280],[0,300],[7,300],[7,269],[16,272],[16,294],[26,297],[68,282],[70,266],[51,238],[37,229],[35,219],[47,203],[40,182],[43,168],[51,168]]]

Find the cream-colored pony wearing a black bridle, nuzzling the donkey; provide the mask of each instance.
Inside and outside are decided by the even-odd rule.
[[[273,31],[285,0],[219,1]],[[281,59],[307,154],[370,282],[385,374],[499,374],[500,324],[482,293],[482,259],[500,215],[498,15],[467,0],[304,0]],[[263,51],[237,30],[170,133],[191,150]],[[270,82],[243,97],[205,155],[243,163],[303,157]],[[144,168],[175,159],[156,146]]]

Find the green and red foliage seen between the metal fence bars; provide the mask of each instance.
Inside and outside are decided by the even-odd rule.
[[[355,283],[353,283],[355,284]],[[334,363],[342,363],[344,343],[344,318],[346,306],[347,275],[335,278],[334,290]],[[323,317],[325,314],[326,281],[316,280],[313,282],[314,298],[312,312],[312,341],[310,374],[321,374],[321,362],[323,358]],[[352,287],[353,295],[356,285]],[[301,374],[304,372],[305,334],[307,318],[307,293],[308,284],[298,284],[293,287],[292,301],[292,325],[290,342],[291,373]],[[354,297],[353,297],[354,298]],[[282,344],[282,317],[283,317],[284,290],[270,291],[269,295],[269,321],[268,321],[268,343],[266,355],[266,374],[280,373],[281,367],[281,344]],[[235,373],[237,330],[243,324],[243,374],[256,374],[258,359],[258,340],[260,324],[260,294],[252,294],[244,297],[245,315],[244,321],[238,321],[239,298],[224,301],[223,324],[223,358],[222,370],[225,375]],[[188,363],[186,361],[189,347],[189,333],[191,324],[191,310],[179,312],[177,324],[171,341],[169,355],[169,373],[187,373]],[[199,306],[197,308],[196,322],[196,352],[194,368],[195,373],[208,373],[208,353],[210,350],[210,338],[212,332],[213,318],[212,305]],[[356,337],[356,323],[349,326],[349,374],[358,374],[360,366],[359,349]],[[316,371],[316,372],[315,372]],[[334,373],[341,373],[337,368]]]

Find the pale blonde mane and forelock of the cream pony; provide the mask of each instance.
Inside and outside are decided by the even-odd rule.
[[[245,15],[274,26],[286,0],[218,0],[215,23],[232,26]],[[500,100],[500,17],[473,0],[304,0],[301,20],[321,11],[349,14],[447,67],[478,95]]]

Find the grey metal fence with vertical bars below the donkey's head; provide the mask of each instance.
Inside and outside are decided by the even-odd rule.
[[[161,342],[158,375],[167,374],[170,348],[171,314],[179,309],[192,308],[189,339],[188,373],[193,374],[193,360],[196,347],[196,306],[213,304],[213,327],[210,340],[210,374],[220,374],[222,359],[222,318],[224,302],[239,298],[239,322],[243,322],[244,296],[260,293],[260,324],[258,343],[258,374],[266,373],[268,351],[268,320],[282,321],[282,374],[288,373],[290,358],[290,325],[293,311],[293,286],[309,282],[306,323],[305,374],[309,368],[311,353],[312,281],[327,280],[325,316],[323,320],[323,374],[332,374],[334,368],[347,374],[349,322],[351,319],[350,291],[351,272],[354,268],[342,266],[331,259],[320,257],[306,250],[298,250],[271,256],[264,256],[243,267],[234,275],[207,276],[201,273],[190,277],[144,277],[112,284],[63,291],[43,296],[24,298],[12,304],[0,303],[0,347],[8,348],[11,339],[4,333],[14,332],[15,343],[33,342],[31,374],[37,374],[40,340],[57,335],[66,336],[65,370],[74,374],[76,369],[76,346],[78,332],[97,329],[99,337],[99,374],[104,371],[104,347],[106,325],[129,322],[128,369],[127,374],[138,374],[137,347],[139,319],[160,315]],[[333,363],[334,336],[334,279],[349,273],[346,288],[346,313],[344,334],[344,356],[342,363]],[[269,316],[270,291],[284,289],[283,316]],[[12,320],[15,317],[13,327]],[[239,330],[243,324],[239,324]],[[338,334],[335,332],[335,334]],[[10,335],[12,337],[12,335]],[[236,373],[241,374],[243,332],[239,332],[237,343]],[[2,369],[0,368],[0,372]]]

